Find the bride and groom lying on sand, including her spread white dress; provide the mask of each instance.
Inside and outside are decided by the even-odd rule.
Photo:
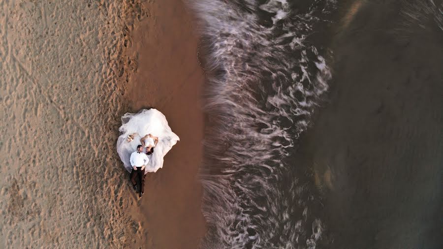
[[[156,109],[125,114],[119,131],[121,135],[117,140],[117,152],[125,168],[131,173],[134,189],[136,178],[139,178],[141,197],[145,175],[163,167],[163,157],[180,138],[172,132],[166,117]],[[140,137],[139,134],[147,135]]]

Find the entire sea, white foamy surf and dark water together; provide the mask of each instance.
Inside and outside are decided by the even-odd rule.
[[[199,0],[203,248],[440,248],[441,1]]]

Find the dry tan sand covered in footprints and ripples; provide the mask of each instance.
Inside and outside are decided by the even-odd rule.
[[[0,0],[1,248],[124,247],[145,231],[115,151],[132,1]],[[135,1],[137,2],[137,1]]]

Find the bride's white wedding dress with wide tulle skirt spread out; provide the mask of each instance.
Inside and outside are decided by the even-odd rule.
[[[174,146],[180,138],[172,132],[166,121],[166,117],[157,109],[143,109],[138,113],[127,113],[122,117],[122,126],[119,128],[120,136],[117,140],[117,152],[123,161],[127,171],[132,171],[129,162],[131,153],[136,151],[141,145],[140,139],[146,134],[158,137],[158,143],[154,148],[154,153],[149,155],[149,163],[145,170],[156,172],[163,167],[163,156]],[[134,134],[133,140],[128,142],[128,135]],[[143,149],[146,152],[146,148]]]

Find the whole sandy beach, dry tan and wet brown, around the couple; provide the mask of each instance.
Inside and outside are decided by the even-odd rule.
[[[0,0],[0,248],[192,248],[203,234],[196,38],[180,2],[131,2]],[[139,202],[115,143],[122,114],[148,105],[182,141]]]

